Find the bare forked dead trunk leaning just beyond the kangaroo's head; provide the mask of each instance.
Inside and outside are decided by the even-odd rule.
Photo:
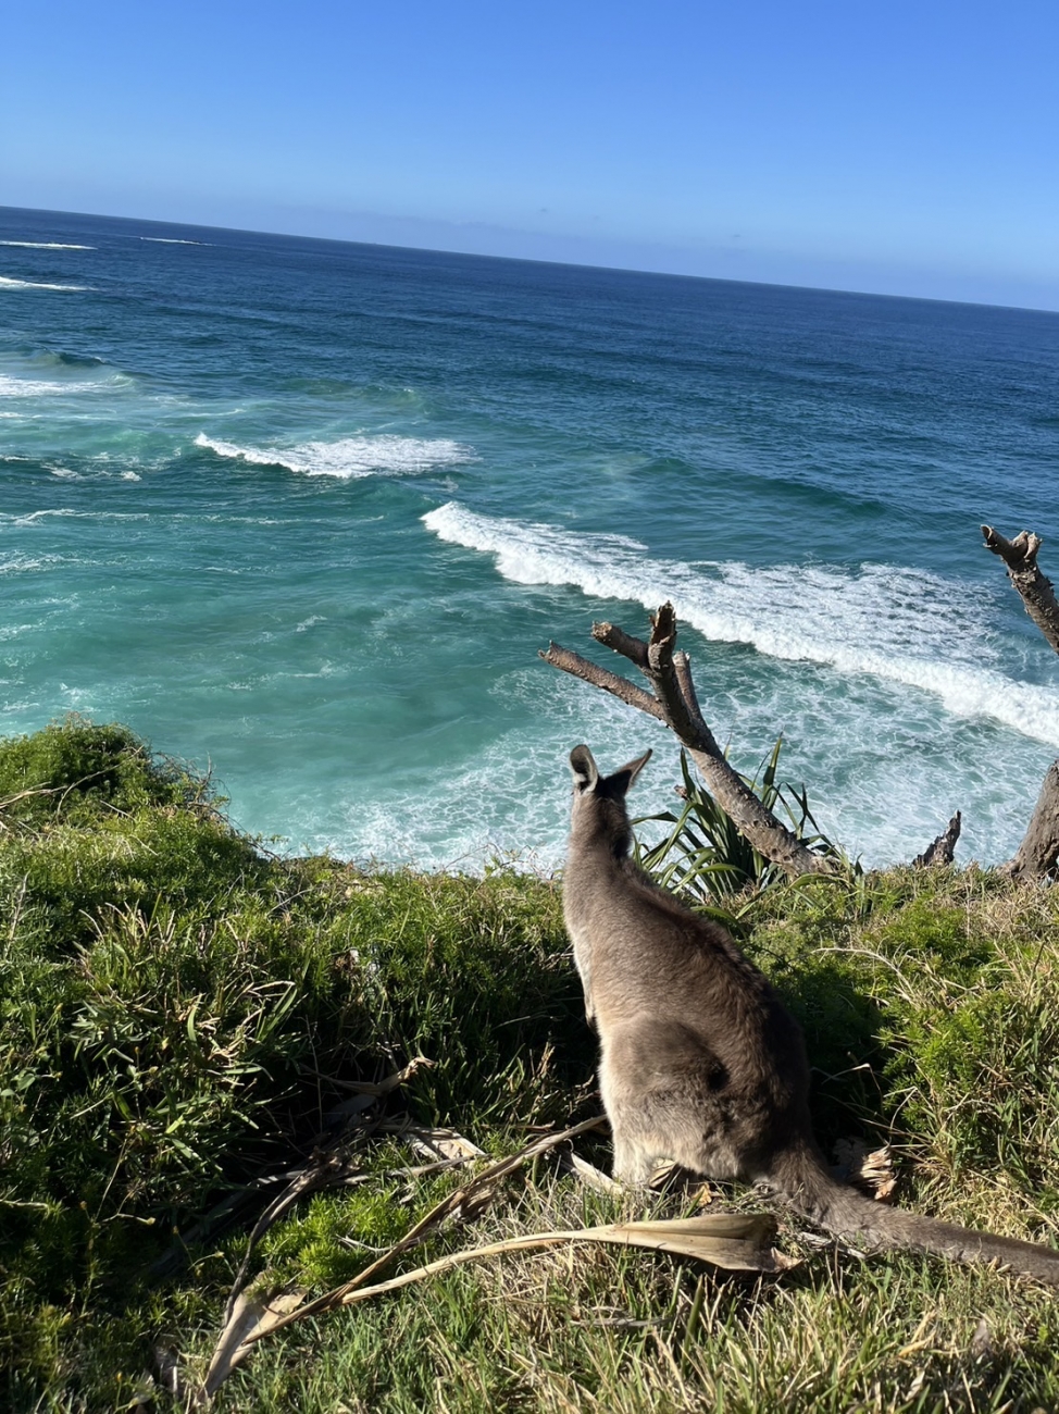
[[[674,652],[676,636],[677,621],[672,604],[663,604],[653,615],[650,639],[646,643],[614,624],[592,624],[592,638],[635,663],[650,683],[653,693],[638,687],[628,677],[599,667],[580,653],[560,648],[558,643],[549,643],[547,652],[542,652],[540,656],[553,667],[601,687],[629,707],[639,707],[640,711],[665,723],[684,744],[707,789],[731,816],[739,833],[759,854],[778,864],[789,878],[834,872],[834,863],[807,848],[728,765],[698,706],[687,653]]]

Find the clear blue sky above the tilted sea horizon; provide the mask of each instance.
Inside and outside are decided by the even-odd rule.
[[[8,7],[0,204],[1059,308],[1056,0]]]

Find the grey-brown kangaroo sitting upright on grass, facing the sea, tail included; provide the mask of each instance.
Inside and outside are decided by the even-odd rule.
[[[631,858],[625,796],[650,752],[601,776],[570,752],[574,805],[563,912],[601,1041],[614,1175],[667,1158],[704,1178],[766,1184],[796,1212],[871,1247],[995,1261],[1059,1285],[1059,1251],[885,1208],[836,1182],[813,1138],[802,1029],[717,923]]]

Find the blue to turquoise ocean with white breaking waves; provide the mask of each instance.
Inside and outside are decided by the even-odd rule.
[[[561,854],[561,679],[672,597],[738,765],[870,863],[1017,844],[1059,663],[1059,317],[0,209],[3,730],[120,718],[291,848]],[[1055,551],[1059,556],[1059,550]]]

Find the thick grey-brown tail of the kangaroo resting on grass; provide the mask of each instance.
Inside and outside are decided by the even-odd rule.
[[[837,1237],[868,1247],[933,1253],[952,1261],[995,1261],[1059,1287],[1056,1249],[887,1208],[855,1188],[837,1184],[809,1147],[778,1155],[771,1182],[796,1212]]]

